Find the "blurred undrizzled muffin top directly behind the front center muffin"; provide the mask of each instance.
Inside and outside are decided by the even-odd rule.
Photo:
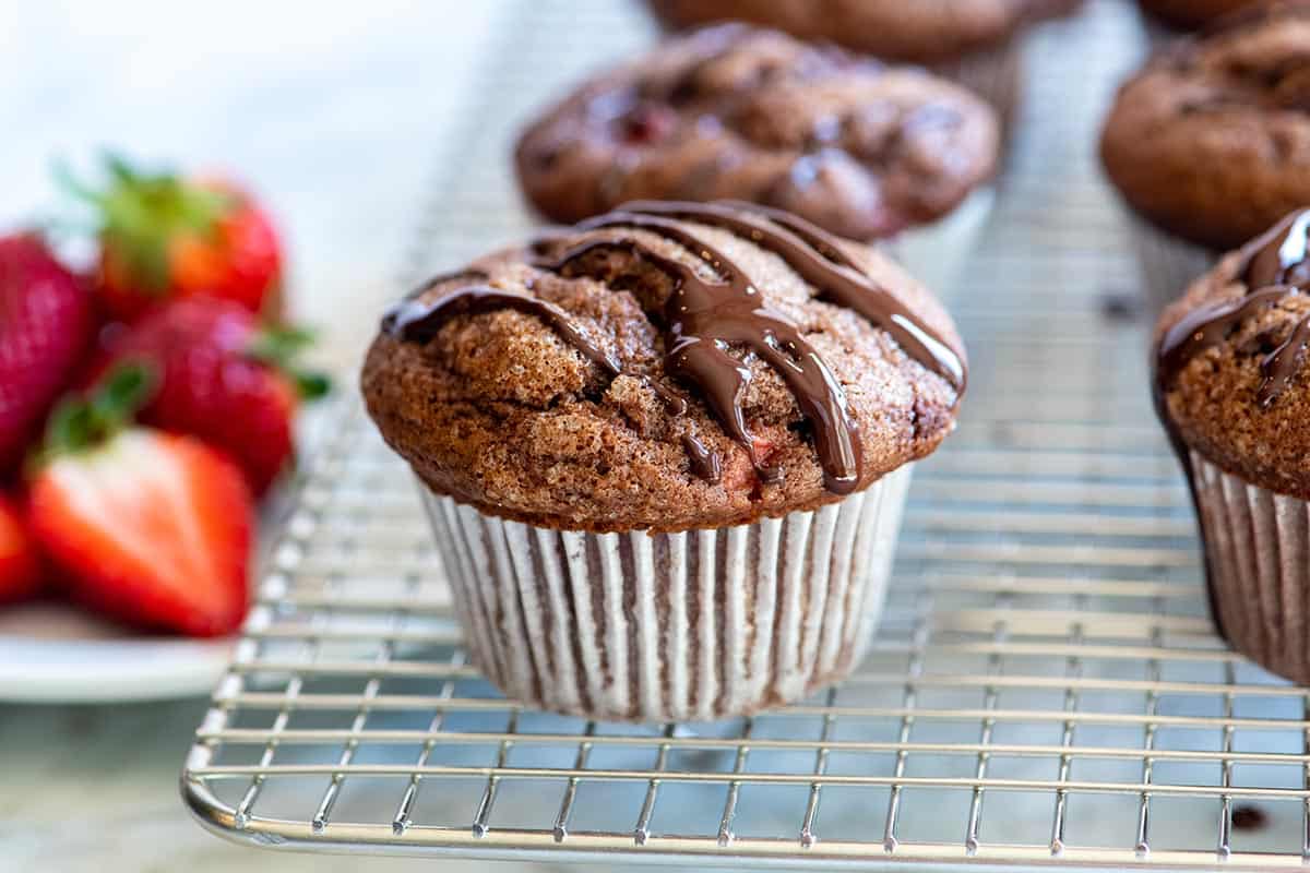
[[[736,198],[874,240],[954,209],[997,148],[992,109],[942,79],[722,25],[584,84],[524,132],[516,165],[557,221]]]

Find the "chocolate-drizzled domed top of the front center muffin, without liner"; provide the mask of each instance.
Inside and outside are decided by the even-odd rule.
[[[363,391],[438,493],[537,526],[812,509],[933,452],[964,352],[879,253],[741,203],[631,203],[397,305]]]

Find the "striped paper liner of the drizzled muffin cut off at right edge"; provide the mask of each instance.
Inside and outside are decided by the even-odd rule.
[[[1214,619],[1238,652],[1310,683],[1310,503],[1191,455]]]

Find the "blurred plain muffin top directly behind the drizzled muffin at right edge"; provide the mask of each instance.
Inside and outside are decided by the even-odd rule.
[[[1146,219],[1233,249],[1310,203],[1310,1],[1276,3],[1157,54],[1100,143]]]

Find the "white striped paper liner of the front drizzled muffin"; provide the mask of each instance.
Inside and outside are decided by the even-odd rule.
[[[815,512],[588,534],[421,492],[470,656],[507,696],[600,720],[709,721],[795,702],[859,662],[910,466]]]

